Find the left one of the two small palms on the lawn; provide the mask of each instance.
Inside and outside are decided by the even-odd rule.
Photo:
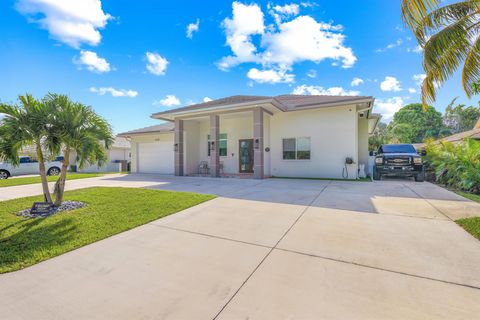
[[[35,146],[43,195],[46,202],[52,203],[44,154],[45,149],[51,151],[45,144],[50,112],[42,101],[36,100],[30,94],[19,96],[18,100],[19,105],[0,104],[0,114],[4,114],[4,118],[0,120],[0,158],[18,165],[20,150],[27,146]],[[52,154],[50,152],[50,155]]]

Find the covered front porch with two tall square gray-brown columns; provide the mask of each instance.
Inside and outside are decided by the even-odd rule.
[[[261,107],[176,117],[175,175],[269,176],[269,117]]]

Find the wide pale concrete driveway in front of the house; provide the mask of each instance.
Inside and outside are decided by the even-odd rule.
[[[475,319],[480,314],[480,242],[452,221],[480,215],[480,205],[435,185],[153,175],[94,179],[90,186],[219,197],[0,275],[0,319]],[[69,182],[70,188],[85,180]]]

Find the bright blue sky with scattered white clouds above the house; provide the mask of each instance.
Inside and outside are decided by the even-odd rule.
[[[236,94],[372,95],[387,121],[419,101],[399,1],[4,0],[0,14],[0,101],[65,93],[117,133]],[[434,105],[456,96],[478,101],[456,76]]]

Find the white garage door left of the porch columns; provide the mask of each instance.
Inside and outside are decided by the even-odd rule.
[[[160,141],[138,144],[138,172],[174,174],[172,143]]]

